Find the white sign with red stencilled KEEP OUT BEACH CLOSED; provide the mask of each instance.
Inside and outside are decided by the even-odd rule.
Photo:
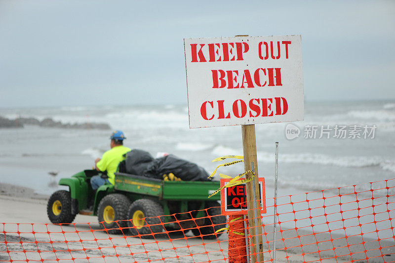
[[[300,35],[184,39],[190,128],[302,121]]]

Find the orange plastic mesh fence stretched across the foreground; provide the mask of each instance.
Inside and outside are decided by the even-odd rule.
[[[263,259],[273,262],[274,199],[266,204]],[[282,196],[276,208],[276,262],[395,262],[395,179]],[[215,217],[173,216],[179,229],[170,230],[164,217],[147,225],[163,226],[155,236],[131,236],[123,221],[118,235],[98,223],[0,223],[0,262],[246,262],[237,258],[245,236],[234,233],[244,232],[243,219],[228,219],[228,248],[227,234],[202,238],[223,226]]]

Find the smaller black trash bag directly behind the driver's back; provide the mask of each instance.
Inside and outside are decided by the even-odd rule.
[[[120,173],[127,173],[131,175],[144,174],[147,167],[154,160],[154,157],[149,152],[133,149],[125,154],[126,159],[119,163],[118,171]]]

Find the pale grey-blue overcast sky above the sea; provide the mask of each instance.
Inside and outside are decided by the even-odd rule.
[[[0,107],[187,104],[184,38],[295,34],[307,101],[395,99],[395,1],[0,0]]]

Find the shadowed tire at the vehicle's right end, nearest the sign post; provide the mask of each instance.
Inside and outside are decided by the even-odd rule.
[[[223,232],[215,233],[215,231],[226,227],[226,216],[221,215],[221,205],[216,201],[206,201],[204,206],[207,208],[208,215],[212,217],[208,218],[207,213],[205,213],[205,217],[207,217],[204,219],[205,226],[193,228],[192,233],[195,236],[201,234],[203,238],[214,239],[222,235]]]

